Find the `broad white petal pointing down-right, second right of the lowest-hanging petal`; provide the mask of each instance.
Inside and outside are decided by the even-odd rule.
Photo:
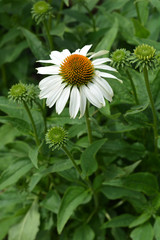
[[[105,106],[103,95],[95,84],[89,83],[87,86],[83,86],[83,90],[88,101],[94,106],[98,108]]]

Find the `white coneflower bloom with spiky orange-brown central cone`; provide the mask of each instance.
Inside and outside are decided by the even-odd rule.
[[[46,104],[50,108],[56,104],[58,114],[63,111],[69,98],[69,113],[72,118],[76,117],[79,110],[80,117],[84,115],[87,99],[98,108],[105,106],[105,99],[112,101],[112,88],[104,78],[117,79],[117,77],[98,69],[116,70],[104,64],[111,61],[109,58],[91,60],[106,54],[105,50],[92,53],[90,57],[87,57],[91,46],[86,45],[73,53],[70,53],[68,49],[62,52],[52,51],[51,60],[39,61],[53,64],[39,67],[37,70],[40,74],[50,75],[39,83],[40,99],[47,98]]]

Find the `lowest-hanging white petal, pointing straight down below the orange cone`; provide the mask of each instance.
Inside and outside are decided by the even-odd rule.
[[[80,93],[76,86],[71,90],[69,113],[71,118],[75,118],[80,107]]]

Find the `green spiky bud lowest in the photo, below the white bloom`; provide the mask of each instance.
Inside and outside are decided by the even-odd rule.
[[[52,127],[46,134],[46,143],[49,144],[49,147],[53,150],[65,146],[67,140],[67,132],[62,127]]]

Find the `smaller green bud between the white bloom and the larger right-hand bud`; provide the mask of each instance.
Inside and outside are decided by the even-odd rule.
[[[124,48],[117,49],[111,54],[112,62],[110,65],[116,69],[124,69],[126,67],[130,67],[130,51],[127,51]]]

